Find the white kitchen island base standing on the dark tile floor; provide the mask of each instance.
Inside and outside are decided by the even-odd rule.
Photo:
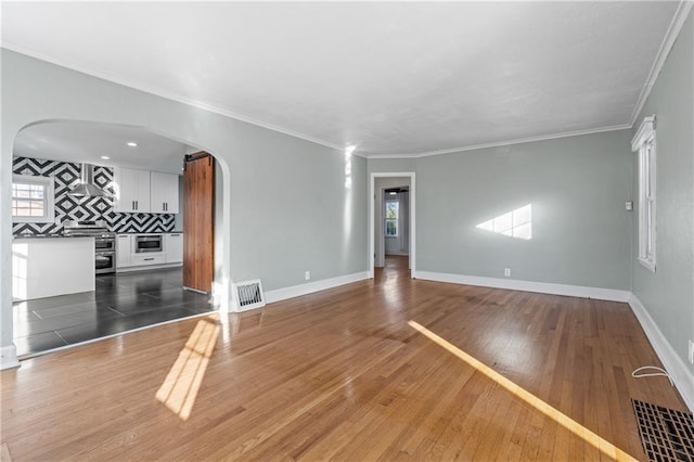
[[[15,300],[90,292],[94,287],[94,238],[35,235],[12,241]]]

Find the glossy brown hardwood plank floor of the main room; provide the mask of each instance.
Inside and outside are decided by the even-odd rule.
[[[659,361],[626,304],[406,262],[24,361],[1,374],[1,442],[15,461],[645,460],[630,398],[685,409],[631,377]]]

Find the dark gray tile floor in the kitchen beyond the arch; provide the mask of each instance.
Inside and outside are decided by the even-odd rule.
[[[214,309],[182,288],[181,268],[98,274],[94,292],[13,304],[14,344],[25,357]]]

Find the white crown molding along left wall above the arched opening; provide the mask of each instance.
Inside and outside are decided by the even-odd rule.
[[[25,54],[27,56],[30,56],[30,57],[34,57],[34,59],[37,59],[37,60],[40,60],[40,61],[46,61],[46,62],[54,64],[56,66],[65,67],[65,68],[68,68],[70,70],[75,70],[75,72],[78,72],[78,73],[81,73],[81,74],[89,75],[91,77],[97,77],[97,78],[100,78],[102,80],[110,81],[112,84],[117,84],[117,85],[120,85],[120,86],[124,86],[124,87],[131,88],[133,90],[143,91],[145,93],[154,94],[155,97],[164,98],[166,100],[176,101],[178,103],[185,104],[188,106],[197,107],[200,110],[204,110],[204,111],[208,111],[210,113],[219,114],[219,115],[222,115],[224,117],[233,118],[235,120],[240,120],[240,121],[243,121],[243,123],[246,123],[246,124],[255,125],[257,127],[266,128],[268,130],[278,131],[280,133],[288,134],[290,137],[298,138],[298,139],[301,139],[301,140],[305,140],[305,141],[309,141],[309,142],[316,143],[316,144],[321,144],[323,146],[331,147],[331,149],[334,149],[334,150],[337,150],[337,151],[340,151],[340,152],[345,150],[345,146],[339,146],[337,144],[331,143],[330,141],[321,140],[320,138],[310,137],[308,134],[300,133],[298,131],[294,131],[294,130],[291,130],[291,129],[285,128],[285,127],[281,127],[281,126],[273,125],[273,124],[268,124],[268,123],[265,123],[265,121],[260,121],[260,120],[257,120],[257,119],[255,119],[253,117],[248,117],[248,116],[243,115],[243,114],[234,113],[234,112],[227,111],[224,108],[215,106],[214,104],[208,104],[208,103],[205,103],[205,102],[202,102],[202,101],[193,100],[191,98],[182,97],[180,94],[168,93],[168,92],[162,91],[162,90],[153,88],[153,87],[147,87],[147,86],[142,85],[142,84],[137,82],[137,81],[124,79],[124,78],[120,78],[120,77],[117,77],[117,76],[114,76],[114,75],[111,75],[111,74],[107,74],[107,73],[102,73],[100,70],[94,70],[94,69],[91,69],[91,68],[86,67],[86,66],[81,66],[81,65],[73,63],[73,62],[68,62],[68,61],[65,61],[65,60],[57,60],[57,59],[55,59],[53,56],[50,56],[50,55],[47,55],[47,54],[42,54],[42,53],[37,53],[37,52],[33,51],[33,50],[26,49],[24,47],[17,46],[17,44],[12,43],[12,42],[2,41],[2,43],[0,43],[0,47],[4,48],[7,50],[14,51],[14,52],[20,53],[20,54]],[[363,156],[362,153],[355,152],[352,154],[357,155],[357,156]]]

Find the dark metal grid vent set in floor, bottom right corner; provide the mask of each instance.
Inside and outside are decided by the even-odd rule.
[[[694,461],[692,414],[632,399],[643,450],[653,462]]]

